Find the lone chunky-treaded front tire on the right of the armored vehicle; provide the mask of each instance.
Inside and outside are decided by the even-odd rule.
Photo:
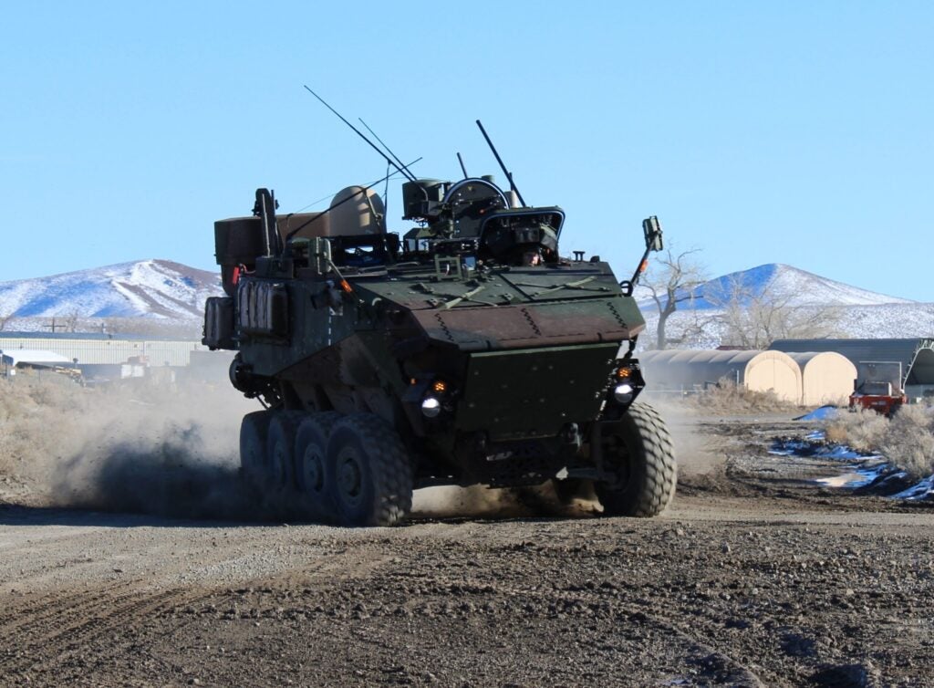
[[[606,516],[657,516],[672,501],[677,483],[672,436],[658,412],[635,403],[613,423],[604,423],[603,467],[615,483],[597,482]]]

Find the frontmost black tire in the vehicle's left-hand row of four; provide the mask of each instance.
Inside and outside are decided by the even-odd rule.
[[[336,523],[393,525],[412,510],[412,462],[396,431],[371,413],[345,416],[328,438],[327,490]]]

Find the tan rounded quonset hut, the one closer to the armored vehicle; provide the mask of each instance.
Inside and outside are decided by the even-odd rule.
[[[693,390],[729,380],[756,392],[773,391],[801,402],[801,369],[782,351],[642,351],[639,362],[649,389]],[[852,380],[851,380],[852,384]]]

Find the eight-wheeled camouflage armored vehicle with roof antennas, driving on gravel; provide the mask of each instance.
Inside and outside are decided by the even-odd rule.
[[[237,351],[233,387],[264,407],[243,419],[240,460],[267,502],[388,525],[430,485],[551,480],[605,515],[654,516],[672,499],[671,437],[636,401],[633,356],[632,288],[662,248],[658,221],[643,222],[643,260],[622,283],[583,251],[562,257],[564,212],[526,205],[477,124],[508,189],[466,170],[417,179],[376,148],[406,179],[401,238],[370,186],[290,215],[259,189],[252,216],[215,222],[227,295],[207,299],[204,342]]]

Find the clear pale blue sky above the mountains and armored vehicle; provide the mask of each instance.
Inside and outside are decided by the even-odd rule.
[[[656,214],[711,276],[786,263],[934,301],[934,4],[18,3],[0,41],[0,281],[164,258],[385,173],[502,174],[621,276]],[[321,207],[326,207],[326,204]],[[389,227],[404,230],[398,182]],[[395,222],[392,218],[396,218]]]

